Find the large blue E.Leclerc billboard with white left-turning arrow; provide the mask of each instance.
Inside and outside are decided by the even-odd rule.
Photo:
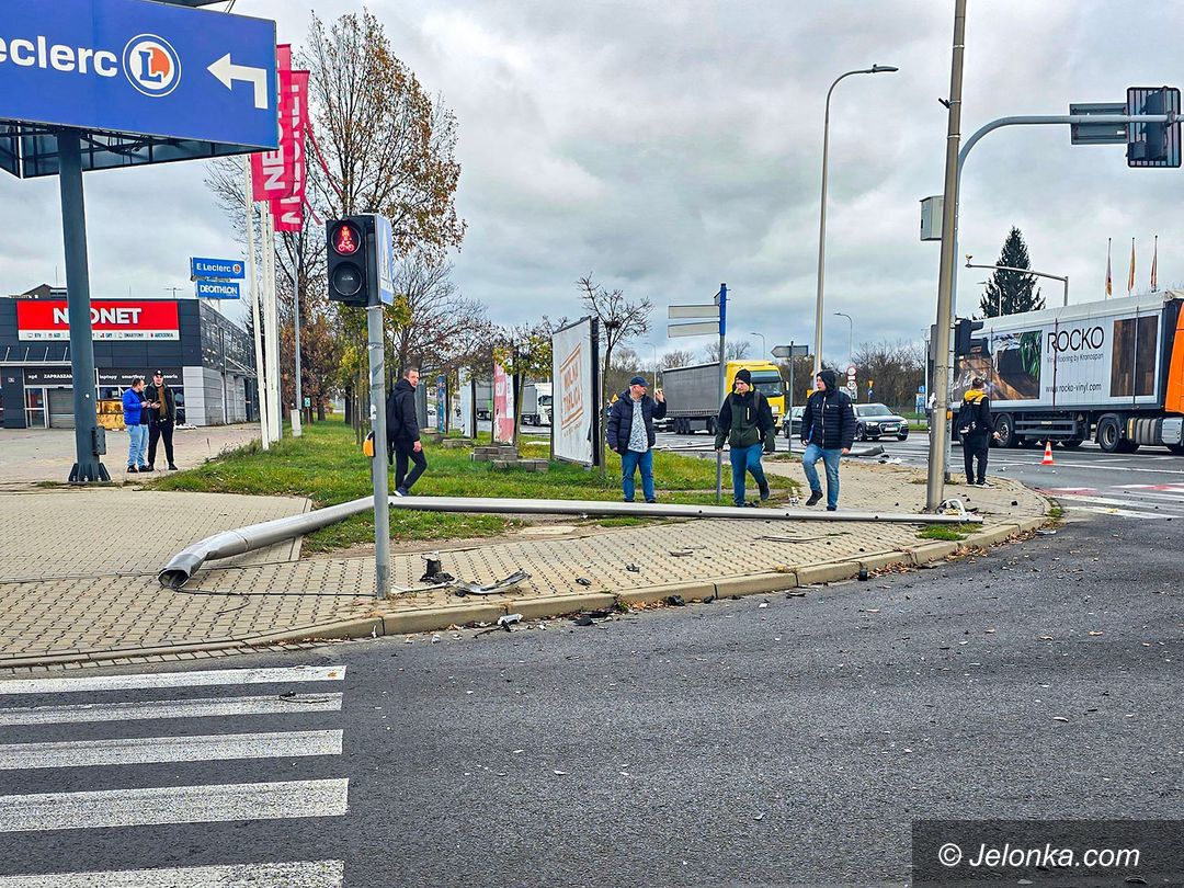
[[[275,148],[276,24],[149,0],[19,0],[0,120]]]

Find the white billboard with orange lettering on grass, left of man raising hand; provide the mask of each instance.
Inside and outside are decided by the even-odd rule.
[[[583,465],[596,461],[597,382],[592,318],[564,327],[551,337],[552,449],[556,459]]]

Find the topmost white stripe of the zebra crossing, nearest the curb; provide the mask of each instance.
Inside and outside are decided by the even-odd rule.
[[[94,675],[76,678],[17,678],[0,681],[4,694],[65,694],[91,690],[143,690],[146,688],[200,688],[213,684],[278,684],[288,682],[336,682],[346,668],[282,667],[277,669],[210,669],[197,673],[149,673],[144,675]]]

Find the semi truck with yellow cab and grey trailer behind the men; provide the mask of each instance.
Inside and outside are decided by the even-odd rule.
[[[780,427],[785,417],[785,386],[780,367],[770,361],[728,361],[725,368],[728,392],[742,367],[752,374],[753,387],[768,399],[773,423]],[[667,367],[662,371],[662,390],[667,399],[667,424],[676,435],[690,435],[700,429],[715,435],[715,418],[723,403],[718,362]]]

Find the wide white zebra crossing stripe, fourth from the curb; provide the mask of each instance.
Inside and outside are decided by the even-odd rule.
[[[343,817],[349,779],[0,796],[0,832]]]

